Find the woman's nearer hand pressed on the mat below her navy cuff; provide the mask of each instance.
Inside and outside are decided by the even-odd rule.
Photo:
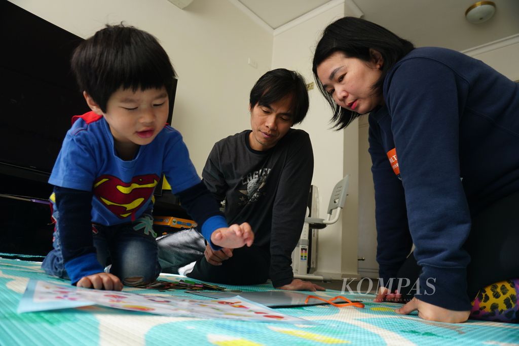
[[[445,309],[439,306],[429,304],[421,301],[416,297],[409,301],[400,309],[395,310],[396,313],[407,315],[415,310],[418,310],[418,317],[427,321],[446,322],[446,323],[461,323],[469,319],[469,311],[455,311]]]

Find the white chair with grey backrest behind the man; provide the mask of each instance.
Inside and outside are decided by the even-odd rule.
[[[343,179],[341,179],[337,184],[335,184],[335,187],[333,188],[332,195],[330,196],[330,203],[328,204],[328,211],[326,215],[326,219],[319,219],[319,218],[305,218],[305,229],[307,231],[311,229],[322,229],[325,228],[327,225],[331,225],[333,223],[336,223],[339,220],[340,212],[342,209],[344,209],[344,205],[346,203],[346,196],[348,195],[348,178],[349,175],[345,176]],[[305,232],[303,232],[305,233]],[[303,236],[301,239],[299,239],[298,246],[296,247],[296,250],[301,247],[308,249],[308,243],[309,238],[311,238],[309,232],[306,232],[306,239],[303,239]],[[317,249],[311,249],[312,253],[311,256],[317,256]],[[297,250],[298,253],[298,250]],[[315,257],[314,257],[315,258]],[[306,261],[305,261],[306,263]],[[294,273],[294,278],[296,279],[310,279],[310,280],[322,280],[322,281],[330,281],[330,278],[324,278],[319,275],[313,275],[306,273],[301,273],[301,267],[300,265],[303,265],[303,263],[297,264],[297,270],[299,273]],[[294,270],[295,271],[295,270]]]

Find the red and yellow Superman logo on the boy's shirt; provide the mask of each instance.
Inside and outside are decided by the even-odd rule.
[[[135,212],[152,196],[158,181],[156,174],[136,176],[129,183],[103,175],[95,179],[93,193],[118,218],[124,219],[131,215],[134,220]]]

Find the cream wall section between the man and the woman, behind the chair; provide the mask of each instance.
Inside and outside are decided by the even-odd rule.
[[[307,83],[314,81],[311,68],[313,51],[317,41],[327,24],[343,16],[344,4],[339,3],[288,29],[281,27],[276,30],[274,48],[272,51],[272,68],[284,67],[297,70],[305,77]],[[308,114],[303,123],[296,127],[308,132],[312,141],[315,160],[312,184],[319,188],[320,217],[324,217],[335,183],[339,181],[344,174],[349,173],[348,168],[346,171],[343,169],[345,163],[345,132],[332,131],[330,129],[331,124],[329,120],[332,111],[317,88],[309,91],[309,97],[310,109]],[[358,139],[354,139],[354,141],[358,143]],[[357,166],[356,162],[352,164]],[[356,189],[355,179],[356,176],[354,175],[352,181],[350,181],[350,192],[352,189]],[[345,208],[348,214],[349,211],[356,209],[355,204],[356,202],[348,196]],[[350,217],[349,219],[357,220],[357,213],[354,211],[348,216]],[[318,273],[326,273],[327,275],[335,274],[333,276],[340,277],[340,273],[342,272],[342,258],[344,256],[342,243],[345,242],[345,238],[347,238],[347,232],[343,232],[343,229],[347,229],[347,227],[343,227],[345,220],[346,219],[339,220],[337,223],[319,231]],[[355,244],[354,256],[356,256],[357,244],[356,228],[355,226],[355,236],[353,239]],[[354,268],[355,272],[356,269],[357,268]]]

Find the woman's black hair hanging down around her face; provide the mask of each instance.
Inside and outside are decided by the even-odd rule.
[[[317,66],[335,52],[369,62],[372,58],[370,49],[374,49],[382,55],[384,64],[381,67],[380,78],[373,85],[373,92],[382,95],[384,79],[389,69],[414,48],[411,42],[398,37],[385,27],[360,18],[344,17],[324,29],[313,55],[312,71],[319,90],[332,107],[332,121],[335,121],[336,129],[348,126],[360,114],[339,107],[335,103],[317,76]]]

